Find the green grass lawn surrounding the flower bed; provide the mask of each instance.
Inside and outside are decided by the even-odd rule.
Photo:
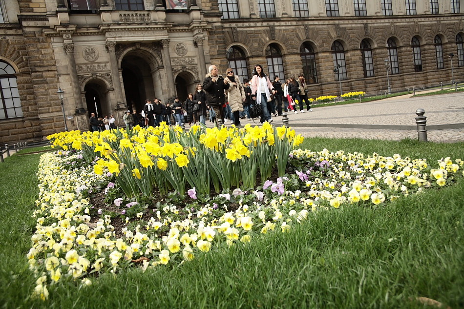
[[[315,138],[302,148],[464,159],[464,143]],[[427,308],[418,296],[464,307],[463,179],[387,206],[320,211],[290,232],[180,266],[105,274],[86,288],[64,280],[49,286],[49,300],[32,300],[26,253],[39,156],[0,164],[2,308]]]

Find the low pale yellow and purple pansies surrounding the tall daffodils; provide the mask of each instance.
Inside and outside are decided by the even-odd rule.
[[[298,149],[289,155],[289,173],[253,189],[231,187],[208,196],[190,188],[189,197],[169,192],[154,200],[122,194],[116,176],[94,173],[98,164],[89,165],[83,153],[65,150],[41,157],[37,225],[27,257],[38,274],[34,295],[42,299],[47,287],[65,278],[91,284],[104,272],[178,264],[223,244],[288,231],[309,211],[375,207],[450,185],[463,176],[464,165],[445,158],[431,168],[425,160],[399,155]],[[106,197],[102,208],[90,203],[97,193]]]

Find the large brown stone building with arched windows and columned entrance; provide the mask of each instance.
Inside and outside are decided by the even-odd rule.
[[[92,112],[123,124],[147,98],[187,98],[211,64],[242,80],[258,63],[282,82],[303,73],[312,98],[462,81],[463,5],[0,0],[0,145],[88,130]]]

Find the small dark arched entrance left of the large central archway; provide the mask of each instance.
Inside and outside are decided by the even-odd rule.
[[[90,80],[85,84],[84,91],[89,115],[95,113],[98,117],[105,117],[105,115],[111,113],[111,106],[109,106],[107,100],[108,90],[105,82],[99,79]]]

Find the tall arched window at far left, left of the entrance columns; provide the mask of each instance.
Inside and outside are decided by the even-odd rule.
[[[0,120],[22,117],[15,73],[11,65],[0,61]]]

